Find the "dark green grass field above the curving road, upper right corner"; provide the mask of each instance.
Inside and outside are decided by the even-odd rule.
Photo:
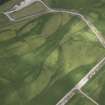
[[[105,1],[104,0],[44,0],[52,8],[65,8],[68,10],[79,11],[89,18],[97,28],[105,33]]]

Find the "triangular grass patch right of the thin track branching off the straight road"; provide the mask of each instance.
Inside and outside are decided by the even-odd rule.
[[[100,105],[105,104],[105,67],[84,88],[83,91]]]

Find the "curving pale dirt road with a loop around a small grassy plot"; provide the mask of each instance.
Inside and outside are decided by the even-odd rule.
[[[25,6],[23,5],[23,7],[20,6],[15,10],[13,9],[11,11],[4,12],[4,14],[10,19],[10,21],[16,21],[14,18],[12,18],[10,16],[10,14],[15,12],[15,11],[19,11],[19,10],[23,9],[24,7],[29,6],[29,5],[31,5],[32,3],[35,3],[35,2],[40,2],[41,4],[43,4],[47,8],[48,11],[45,12],[44,14],[48,14],[48,13],[68,13],[70,15],[80,17],[87,24],[87,26],[90,28],[90,30],[96,35],[97,39],[100,41],[100,43],[105,48],[105,38],[103,37],[101,32],[99,32],[97,30],[97,28],[88,19],[86,19],[82,14],[80,14],[78,12],[68,11],[68,10],[65,10],[65,9],[62,9],[62,10],[52,9],[49,6],[47,6],[42,0],[30,0],[30,2],[28,0],[28,3],[26,3],[27,5],[25,5]],[[42,15],[43,15],[43,13],[42,13]],[[41,14],[35,14],[35,15],[32,15],[32,16],[27,16],[25,18],[30,18],[30,17],[34,17],[34,16],[41,16]],[[21,20],[24,20],[25,18],[23,18]]]

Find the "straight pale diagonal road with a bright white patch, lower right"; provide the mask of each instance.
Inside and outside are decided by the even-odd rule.
[[[105,65],[105,57],[95,65],[56,105],[65,105]]]

